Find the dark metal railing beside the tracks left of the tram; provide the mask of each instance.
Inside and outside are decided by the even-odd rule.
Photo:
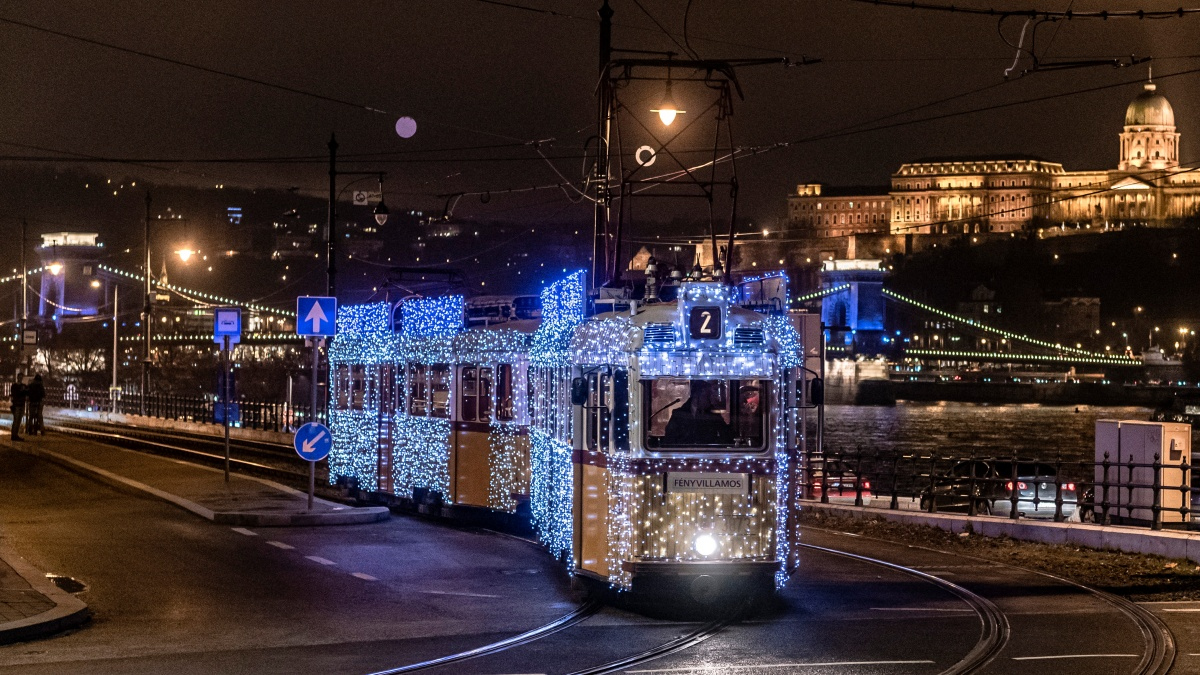
[[[47,387],[46,405],[96,412],[140,414],[142,394],[120,392],[116,398],[113,398],[108,389]],[[229,424],[230,426],[262,431],[290,431],[311,420],[308,408],[308,405],[238,399],[229,402]],[[150,394],[145,400],[145,413],[146,417],[158,419],[224,424],[226,406],[215,396]],[[324,414],[318,416],[319,420],[323,418]]]

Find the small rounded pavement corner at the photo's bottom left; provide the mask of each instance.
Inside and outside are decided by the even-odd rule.
[[[52,584],[0,540],[0,645],[44,638],[91,619],[79,598]]]

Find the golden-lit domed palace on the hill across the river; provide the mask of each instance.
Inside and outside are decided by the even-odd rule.
[[[1027,156],[929,160],[902,165],[874,193],[814,183],[787,198],[790,227],[815,238],[1170,227],[1198,215],[1200,171],[1180,167],[1175,112],[1153,83],[1126,109],[1116,169],[1064,171]]]

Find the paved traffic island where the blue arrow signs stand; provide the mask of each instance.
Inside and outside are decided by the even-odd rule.
[[[5,430],[7,431],[7,430]],[[288,527],[355,525],[386,520],[386,507],[355,508],[308,495],[272,480],[223,472],[180,460],[161,458],[52,431],[13,442],[4,434],[0,443],[30,453],[72,471],[86,473],[122,489],[149,492],[200,518],[222,525]]]

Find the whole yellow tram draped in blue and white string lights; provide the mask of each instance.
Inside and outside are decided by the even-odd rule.
[[[576,273],[539,319],[473,329],[461,297],[341,307],[331,480],[527,522],[608,587],[709,603],[782,584],[814,317],[718,280],[672,295],[598,313]]]

